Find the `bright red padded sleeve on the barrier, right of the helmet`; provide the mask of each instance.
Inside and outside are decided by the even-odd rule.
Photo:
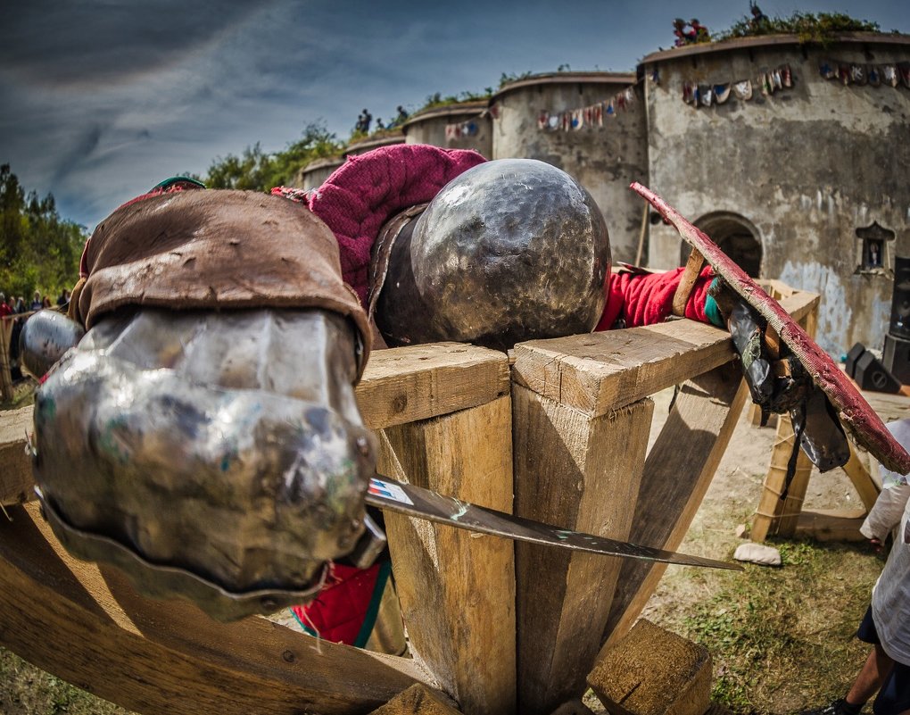
[[[607,304],[601,322],[595,330],[610,330],[622,319],[627,328],[663,322],[673,311],[673,294],[684,269],[665,273],[614,273],[607,287]],[[714,280],[714,272],[705,266],[685,306],[685,317],[693,321],[711,322],[704,312],[704,301]]]

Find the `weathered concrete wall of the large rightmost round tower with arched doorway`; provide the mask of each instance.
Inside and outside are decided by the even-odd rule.
[[[854,344],[881,349],[890,314],[888,260],[910,256],[910,89],[844,86],[834,63],[895,63],[905,36],[851,36],[801,47],[794,37],[693,46],[642,60],[649,121],[650,187],[696,224],[742,219],[761,242],[763,278],[822,296],[818,342],[835,356]],[[794,86],[749,101],[692,107],[683,83],[722,84],[788,65]],[[714,219],[714,220],[713,220]],[[860,269],[856,230],[893,231],[885,267]],[[707,225],[706,225],[707,230]],[[708,230],[710,235],[710,230]],[[679,265],[681,241],[651,228],[649,265]],[[859,269],[859,270],[858,270]]]

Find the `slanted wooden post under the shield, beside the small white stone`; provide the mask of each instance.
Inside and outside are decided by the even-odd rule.
[[[796,457],[796,471],[790,492],[786,499],[781,499],[786,480],[787,465],[794,450],[794,428],[789,414],[778,415],[777,434],[771,452],[771,464],[764,477],[762,495],[755,510],[750,536],[753,541],[764,541],[768,536],[784,536],[782,526],[793,536],[796,528],[796,517],[803,506],[809,475],[812,474],[812,462],[803,450]],[[784,519],[786,521],[784,521]]]

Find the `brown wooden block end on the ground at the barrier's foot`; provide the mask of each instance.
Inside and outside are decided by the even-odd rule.
[[[708,649],[642,618],[603,653],[588,684],[617,715],[703,715],[711,677]]]

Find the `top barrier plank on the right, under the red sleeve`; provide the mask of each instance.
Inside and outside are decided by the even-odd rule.
[[[730,334],[692,321],[515,346],[513,380],[597,416],[733,360]]]

